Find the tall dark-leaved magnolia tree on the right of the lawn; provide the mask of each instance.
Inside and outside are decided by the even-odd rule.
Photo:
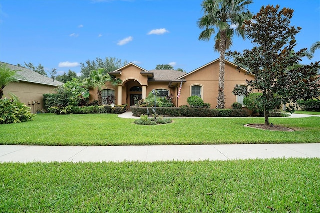
[[[254,75],[247,85],[262,93],[259,102],[264,109],[265,125],[269,125],[269,111],[279,104],[287,104],[288,111],[297,109],[298,100],[308,100],[320,95],[317,83],[319,62],[299,64],[307,56],[307,48],[295,51],[295,35],[300,27],[290,26],[293,9],[263,6],[246,21],[244,30],[254,43],[251,50],[228,52],[234,62]],[[237,94],[238,88],[233,91]]]

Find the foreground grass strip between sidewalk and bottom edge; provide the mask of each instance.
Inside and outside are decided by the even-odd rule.
[[[2,163],[0,212],[319,212],[319,158]]]

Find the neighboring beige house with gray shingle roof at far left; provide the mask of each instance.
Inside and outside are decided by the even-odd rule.
[[[56,80],[53,81],[52,78],[33,70],[8,63],[0,63],[5,64],[11,70],[18,70],[16,73],[22,77],[18,77],[19,82],[11,82],[4,87],[3,98],[10,98],[9,93],[13,93],[22,103],[31,107],[33,113],[36,113],[38,109],[43,109],[43,94],[54,93],[54,89],[58,85],[63,85],[63,83]]]

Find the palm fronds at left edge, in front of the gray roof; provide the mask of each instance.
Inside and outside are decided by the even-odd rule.
[[[22,77],[16,74],[17,70],[11,70],[5,64],[0,64],[0,99],[3,96],[3,89],[10,82],[19,82],[18,77]]]

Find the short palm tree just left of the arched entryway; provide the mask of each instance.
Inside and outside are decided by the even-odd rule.
[[[104,69],[92,70],[88,78],[83,80],[83,83],[88,88],[96,88],[98,93],[98,105],[102,105],[102,86],[106,81],[110,81],[109,74],[103,74]]]

